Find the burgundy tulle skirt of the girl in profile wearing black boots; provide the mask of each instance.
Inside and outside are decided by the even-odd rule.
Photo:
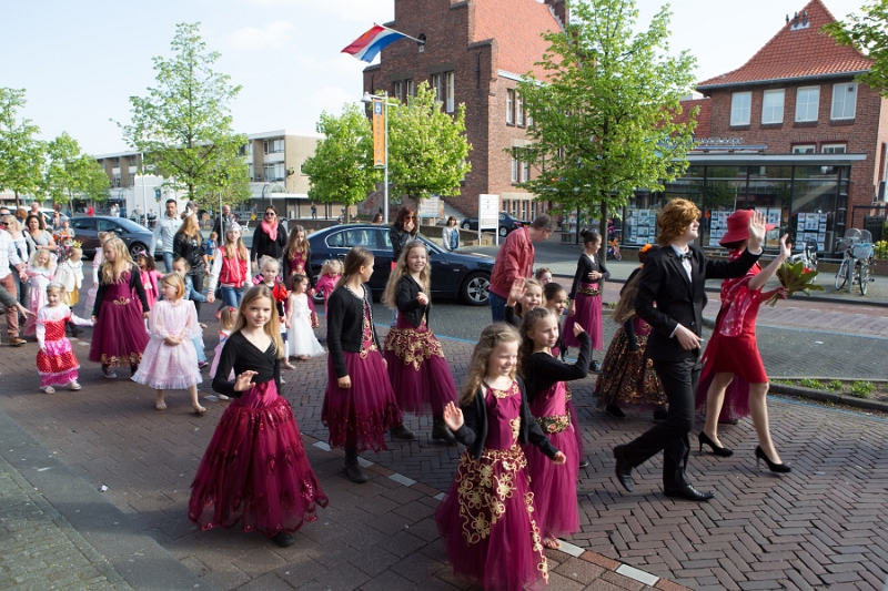
[[[402,417],[382,355],[375,349],[369,350],[364,358],[360,353],[343,355],[351,388],[340,388],[333,359],[327,357],[326,364],[321,421],[330,429],[330,447],[356,447],[359,451],[387,449],[385,431],[401,425]]]

